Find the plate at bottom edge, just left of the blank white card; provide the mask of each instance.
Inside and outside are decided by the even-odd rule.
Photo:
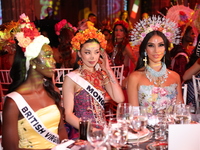
[[[153,142],[146,146],[147,150],[168,150],[168,144],[166,142]]]

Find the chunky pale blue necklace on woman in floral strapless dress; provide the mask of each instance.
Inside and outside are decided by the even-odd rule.
[[[153,82],[155,85],[158,85],[158,86],[163,84],[168,78],[167,67],[164,63],[162,63],[162,68],[160,71],[155,71],[149,65],[147,65],[145,69],[145,73],[149,81]]]

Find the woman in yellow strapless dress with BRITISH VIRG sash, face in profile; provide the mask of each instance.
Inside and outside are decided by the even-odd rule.
[[[2,146],[5,150],[50,150],[68,138],[60,94],[51,78],[55,60],[49,39],[22,14],[15,35],[13,80],[3,106]]]

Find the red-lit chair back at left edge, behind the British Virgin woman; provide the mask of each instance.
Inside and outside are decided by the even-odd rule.
[[[10,70],[0,70],[0,94],[1,94],[1,105],[0,109],[3,107],[3,100],[8,91],[9,85],[12,79],[10,77]]]

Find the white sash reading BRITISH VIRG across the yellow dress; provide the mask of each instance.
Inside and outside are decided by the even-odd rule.
[[[12,98],[15,103],[17,104],[20,112],[26,118],[26,120],[29,122],[31,127],[42,137],[44,137],[49,142],[57,145],[59,143],[59,136],[55,133],[52,133],[49,131],[44,124],[40,121],[38,116],[35,114],[35,112],[32,110],[32,108],[28,105],[28,103],[24,100],[24,98],[17,92],[12,92],[6,95],[10,98]]]

